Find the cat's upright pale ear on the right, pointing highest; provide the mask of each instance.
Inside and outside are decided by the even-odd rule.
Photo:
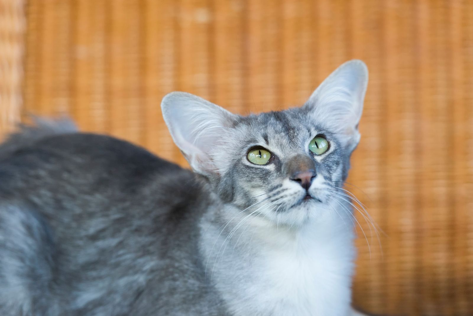
[[[368,68],[363,61],[347,61],[322,82],[306,105],[317,121],[358,142]]]

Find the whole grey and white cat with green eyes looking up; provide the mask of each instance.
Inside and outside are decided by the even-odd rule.
[[[67,122],[0,145],[2,316],[347,316],[355,247],[342,184],[368,70],[301,107],[232,114],[172,92],[192,170]]]

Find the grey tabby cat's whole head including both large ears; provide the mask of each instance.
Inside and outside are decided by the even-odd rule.
[[[354,60],[301,107],[241,116],[184,92],[161,106],[176,145],[224,202],[298,225],[328,210],[347,177],[367,84]]]

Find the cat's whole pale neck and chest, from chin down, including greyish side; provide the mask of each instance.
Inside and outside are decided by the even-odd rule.
[[[349,306],[348,222],[335,213],[288,227],[227,207],[201,225],[201,250],[206,276],[235,315],[343,315],[327,306]]]

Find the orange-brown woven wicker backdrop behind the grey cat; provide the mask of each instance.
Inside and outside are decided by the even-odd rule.
[[[0,12],[15,19],[0,32],[21,29],[18,12]],[[23,114],[69,113],[182,165],[159,110],[167,92],[276,110],[303,103],[343,61],[366,61],[347,188],[384,233],[380,247],[357,214],[370,250],[358,229],[354,302],[382,315],[473,315],[473,2],[29,0],[26,20]],[[21,54],[0,54],[19,70]],[[17,109],[2,103],[2,122]]]

